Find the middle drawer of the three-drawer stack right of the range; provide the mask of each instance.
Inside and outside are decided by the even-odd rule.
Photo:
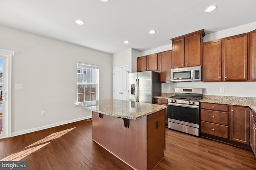
[[[201,120],[221,125],[228,125],[228,113],[201,109]]]

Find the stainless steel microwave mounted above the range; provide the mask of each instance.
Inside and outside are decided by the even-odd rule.
[[[201,66],[172,68],[171,73],[172,82],[201,81]]]

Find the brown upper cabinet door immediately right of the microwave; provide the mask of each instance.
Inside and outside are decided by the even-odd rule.
[[[203,81],[218,82],[222,80],[221,39],[203,43]]]

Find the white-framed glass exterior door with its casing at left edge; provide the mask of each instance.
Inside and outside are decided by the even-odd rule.
[[[5,137],[11,137],[12,125],[11,125],[11,66],[12,66],[13,51],[0,49],[0,72],[2,72],[2,78],[0,81],[0,90],[2,91],[2,133],[0,139]]]

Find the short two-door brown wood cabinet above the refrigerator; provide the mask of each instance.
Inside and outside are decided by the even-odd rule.
[[[137,58],[137,72],[148,70],[158,70],[157,54]]]

